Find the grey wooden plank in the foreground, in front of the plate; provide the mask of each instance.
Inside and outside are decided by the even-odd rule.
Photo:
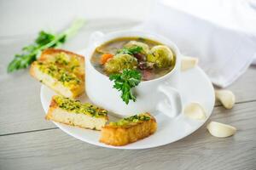
[[[148,150],[100,148],[74,139],[60,129],[2,136],[0,166],[1,169],[254,169],[255,112],[256,102],[238,104],[232,110],[216,107],[210,121],[237,127],[235,136],[212,137],[206,124],[187,138]]]

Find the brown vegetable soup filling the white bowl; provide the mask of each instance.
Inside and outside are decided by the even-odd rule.
[[[172,71],[175,55],[160,42],[142,37],[121,37],[97,47],[90,62],[106,76],[131,69],[140,71],[143,81],[148,81]]]

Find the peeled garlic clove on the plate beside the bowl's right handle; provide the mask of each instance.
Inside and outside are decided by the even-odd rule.
[[[183,113],[185,116],[195,120],[205,120],[207,118],[206,111],[199,103],[186,105]]]

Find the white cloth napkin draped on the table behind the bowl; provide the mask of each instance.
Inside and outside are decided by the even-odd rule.
[[[247,10],[238,2],[255,7]],[[137,29],[168,37],[182,54],[199,58],[201,68],[222,88],[236,81],[256,57],[255,2],[160,0]]]

